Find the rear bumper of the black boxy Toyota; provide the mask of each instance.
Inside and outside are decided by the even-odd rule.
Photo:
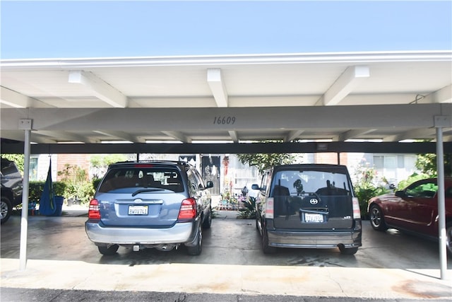
[[[361,223],[359,223],[361,226]],[[278,248],[355,248],[362,245],[362,230],[275,231],[267,230],[268,245]]]

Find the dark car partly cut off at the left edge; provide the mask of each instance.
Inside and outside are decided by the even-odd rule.
[[[13,207],[22,203],[22,182],[16,163],[6,158],[1,158],[1,223],[8,221],[13,212]]]

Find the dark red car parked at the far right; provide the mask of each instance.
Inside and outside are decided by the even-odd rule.
[[[452,254],[452,178],[444,180],[446,202],[447,249]],[[372,228],[386,231],[397,228],[432,240],[439,238],[438,180],[429,178],[413,182],[401,191],[369,200]]]

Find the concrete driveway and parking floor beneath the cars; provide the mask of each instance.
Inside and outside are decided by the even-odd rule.
[[[168,300],[158,301],[179,301],[174,295],[181,293],[191,295],[184,301],[206,301],[206,294],[217,301],[263,301],[263,296],[269,301],[452,300],[452,264],[449,260],[448,279],[439,279],[438,243],[395,230],[376,232],[369,221],[363,223],[363,246],[352,256],[338,249],[263,255],[254,220],[219,211],[203,232],[200,256],[186,255],[183,248],[119,248],[107,257],[88,240],[86,218],[78,214],[29,217],[25,271],[19,271],[20,217],[1,226],[2,302],[25,301],[37,293],[44,295],[40,301],[86,301],[87,291],[97,293],[88,301],[99,300],[99,292],[105,301],[121,295],[141,301],[148,292],[167,294]],[[133,300],[130,293],[141,298]],[[74,294],[78,298],[71,298]]]

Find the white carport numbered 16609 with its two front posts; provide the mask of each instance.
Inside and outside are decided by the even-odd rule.
[[[436,152],[445,278],[451,51],[1,60],[0,105],[25,194],[30,153]]]

